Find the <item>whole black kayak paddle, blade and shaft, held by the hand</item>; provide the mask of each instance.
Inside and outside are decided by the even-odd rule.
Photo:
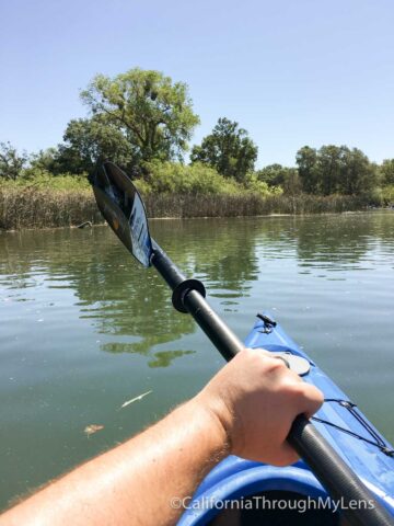
[[[143,202],[130,179],[112,162],[105,162],[95,174],[93,191],[104,218],[129,252],[143,266],[153,265],[172,288],[174,307],[193,316],[227,361],[243,350],[243,343],[205,300],[202,283],[187,279],[150,237]],[[389,526],[393,523],[386,510],[305,416],[296,419],[288,442],[332,499],[340,501],[339,510],[349,524]],[[374,507],[368,506],[370,501]],[[361,504],[352,510],[355,502]]]

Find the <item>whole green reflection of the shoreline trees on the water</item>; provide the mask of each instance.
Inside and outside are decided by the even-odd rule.
[[[151,230],[186,274],[234,310],[265,262],[297,259],[300,274],[345,279],[344,270],[371,268],[380,245],[393,254],[392,226],[391,214],[352,214],[152,221]],[[34,301],[28,290],[42,287],[72,290],[80,318],[109,340],[103,351],[147,356],[152,367],[192,353],[174,344],[195,331],[193,319],[174,311],[154,270],[135,264],[109,229],[3,233],[0,249],[4,299]]]

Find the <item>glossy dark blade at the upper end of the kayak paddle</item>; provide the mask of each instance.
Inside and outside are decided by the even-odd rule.
[[[96,171],[93,192],[104,218],[143,266],[150,266],[152,242],[141,196],[126,173],[113,162]]]

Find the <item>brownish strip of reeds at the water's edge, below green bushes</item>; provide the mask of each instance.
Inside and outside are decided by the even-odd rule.
[[[351,196],[242,194],[151,194],[144,196],[150,217],[236,217],[269,214],[326,214],[361,210],[368,202]],[[0,188],[0,229],[78,226],[103,222],[93,193],[86,190]]]

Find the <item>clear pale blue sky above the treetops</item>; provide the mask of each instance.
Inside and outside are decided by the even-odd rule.
[[[0,141],[61,141],[97,72],[139,66],[189,84],[201,117],[246,128],[258,165],[303,145],[394,158],[393,0],[12,0],[0,5]]]

